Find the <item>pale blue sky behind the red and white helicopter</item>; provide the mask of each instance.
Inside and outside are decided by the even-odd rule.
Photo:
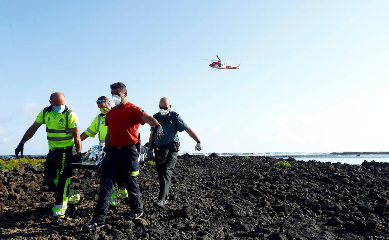
[[[0,154],[55,91],[80,118],[124,82],[168,97],[202,152],[388,151],[387,1],[2,1]],[[216,54],[238,70],[211,71]],[[141,126],[146,142],[149,127]],[[180,133],[181,150],[195,141]],[[88,138],[83,151],[98,142]],[[25,154],[46,154],[44,127]]]

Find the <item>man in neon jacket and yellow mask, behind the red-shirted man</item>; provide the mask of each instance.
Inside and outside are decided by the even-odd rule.
[[[98,134],[99,144],[105,142],[105,135],[107,135],[108,127],[105,126],[105,116],[108,111],[111,110],[111,104],[109,98],[106,96],[101,96],[97,98],[97,107],[100,109],[101,114],[98,114],[95,119],[93,119],[91,125],[81,134],[81,141],[85,140],[88,137],[95,137]],[[119,187],[120,198],[124,200],[126,204],[129,203],[128,191],[123,181],[117,176],[116,184]],[[111,200],[109,204],[113,207],[117,206],[117,194],[115,191],[115,186],[113,187],[113,193],[111,195]]]

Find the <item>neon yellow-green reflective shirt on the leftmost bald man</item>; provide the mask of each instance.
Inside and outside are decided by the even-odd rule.
[[[68,109],[67,106],[61,113],[54,112],[51,106],[45,107],[39,112],[35,121],[39,124],[46,124],[49,149],[74,146],[74,138],[70,128],[77,128],[79,119],[77,114]]]

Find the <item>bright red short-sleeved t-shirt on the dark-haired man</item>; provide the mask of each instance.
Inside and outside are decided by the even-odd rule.
[[[105,126],[109,126],[109,139],[113,147],[125,147],[138,142],[139,124],[145,124],[142,116],[146,112],[128,102],[113,107],[105,117]]]

